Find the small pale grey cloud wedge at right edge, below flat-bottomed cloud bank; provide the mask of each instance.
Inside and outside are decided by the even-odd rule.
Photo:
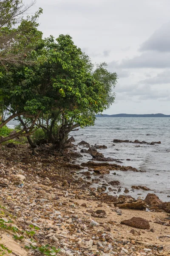
[[[170,70],[165,70],[154,77],[140,81],[142,84],[170,84]]]

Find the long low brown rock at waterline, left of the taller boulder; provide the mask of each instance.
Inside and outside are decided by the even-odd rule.
[[[146,209],[147,205],[142,199],[134,199],[130,195],[119,195],[119,198],[114,203],[116,207],[124,209]]]

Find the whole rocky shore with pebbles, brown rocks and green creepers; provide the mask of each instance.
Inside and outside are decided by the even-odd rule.
[[[93,156],[95,148],[89,154],[104,157]],[[108,184],[91,187],[112,170],[139,170],[97,161],[76,164],[74,146],[59,155],[1,145],[0,156],[0,243],[10,255],[56,255],[58,248],[58,255],[70,256],[170,255],[169,202],[153,193],[144,200],[125,191],[109,195]],[[109,186],[120,189],[115,179]]]

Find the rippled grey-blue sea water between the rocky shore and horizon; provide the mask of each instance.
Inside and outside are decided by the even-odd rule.
[[[149,134],[149,135],[147,135]],[[71,136],[79,143],[85,140],[90,145],[106,145],[107,149],[98,149],[105,157],[121,159],[124,166],[133,166],[145,172],[123,172],[116,171],[117,175],[104,175],[102,183],[111,180],[119,180],[122,191],[124,188],[131,189],[133,185],[147,186],[150,193],[155,193],[163,201],[170,201],[170,118],[162,117],[98,117],[93,127],[72,131]],[[133,143],[114,143],[113,139],[119,140],[139,140],[139,141],[161,141],[161,144],[145,145],[135,147]],[[78,147],[80,151],[82,146]],[[83,154],[83,158],[77,160],[78,163],[91,160],[89,154]],[[126,159],[130,158],[131,161]],[[115,162],[110,162],[115,163]],[[99,185],[97,185],[99,186]],[[145,198],[148,191],[136,190],[126,195],[135,198]],[[111,192],[110,194],[113,194]],[[141,195],[139,195],[141,194]],[[113,194],[115,195],[115,194]]]

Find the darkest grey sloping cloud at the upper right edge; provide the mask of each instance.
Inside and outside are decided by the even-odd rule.
[[[139,48],[140,51],[170,52],[170,22],[157,29]]]

